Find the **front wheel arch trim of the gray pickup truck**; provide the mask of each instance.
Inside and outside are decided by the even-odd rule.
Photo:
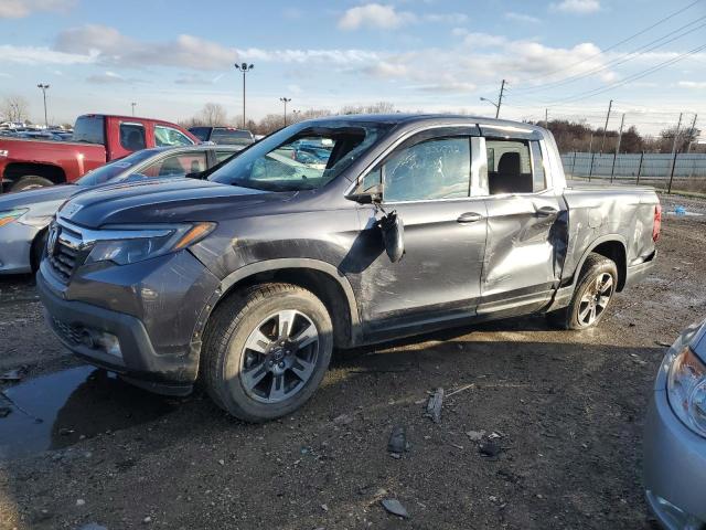
[[[352,347],[362,341],[360,314],[351,284],[333,265],[318,259],[268,259],[231,273],[221,282],[215,301],[210,304],[208,317],[223,300],[243,287],[268,282],[298,285],[319,297],[331,315],[335,347]],[[207,320],[203,319],[204,325]]]

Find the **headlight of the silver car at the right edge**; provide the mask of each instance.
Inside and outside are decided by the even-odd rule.
[[[688,346],[674,358],[666,389],[672,410],[684,425],[706,436],[706,365]]]

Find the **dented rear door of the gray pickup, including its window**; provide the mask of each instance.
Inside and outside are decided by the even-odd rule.
[[[566,252],[567,210],[545,163],[542,136],[482,127],[488,160],[488,244],[479,315],[542,308],[558,286]]]

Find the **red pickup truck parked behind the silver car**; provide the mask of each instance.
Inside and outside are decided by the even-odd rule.
[[[140,149],[199,142],[169,121],[86,114],[76,119],[72,141],[0,138],[0,191],[74,182],[92,169]]]

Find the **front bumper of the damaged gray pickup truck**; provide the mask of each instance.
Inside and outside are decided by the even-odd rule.
[[[65,285],[44,259],[36,288],[51,328],[76,356],[148,390],[183,395],[199,372],[204,308],[217,282],[188,252],[149,262],[79,267]],[[117,354],[92,340],[105,333],[117,339]]]

